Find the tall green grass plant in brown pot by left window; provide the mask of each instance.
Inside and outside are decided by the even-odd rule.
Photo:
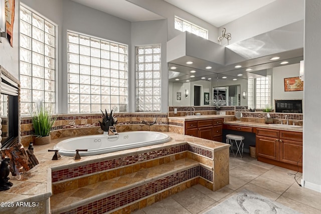
[[[32,125],[34,134],[36,135],[35,145],[45,145],[50,143],[50,130],[56,121],[57,117],[52,117],[51,106],[44,107],[42,103],[35,106],[35,111],[32,117]]]

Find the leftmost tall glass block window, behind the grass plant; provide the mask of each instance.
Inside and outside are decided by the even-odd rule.
[[[21,115],[35,102],[55,109],[56,27],[43,16],[20,6]]]

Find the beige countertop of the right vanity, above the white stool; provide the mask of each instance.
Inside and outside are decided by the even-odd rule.
[[[265,124],[265,123],[255,123],[255,122],[243,122],[243,121],[228,121],[224,122],[226,125],[237,125],[237,126],[246,126],[246,127],[255,127],[255,128],[268,128],[268,129],[276,129],[276,130],[284,130],[284,131],[296,131],[302,132],[303,126],[292,126],[292,125],[283,125],[278,126],[280,124]]]

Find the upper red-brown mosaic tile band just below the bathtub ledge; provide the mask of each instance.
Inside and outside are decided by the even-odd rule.
[[[135,154],[121,158],[104,160],[96,163],[90,163],[82,166],[70,167],[60,170],[52,170],[52,182],[58,182],[82,175],[88,175],[95,172],[100,172],[108,169],[114,169],[121,166],[135,164],[158,157],[164,157],[171,154],[176,154],[184,151],[190,151],[196,154],[206,156],[213,159],[213,151],[209,151],[200,147],[192,146],[190,144],[183,144],[176,147],[164,148],[155,151],[145,152],[142,154]]]

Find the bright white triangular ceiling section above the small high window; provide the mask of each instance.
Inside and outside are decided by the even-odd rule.
[[[276,0],[164,0],[219,28]]]

